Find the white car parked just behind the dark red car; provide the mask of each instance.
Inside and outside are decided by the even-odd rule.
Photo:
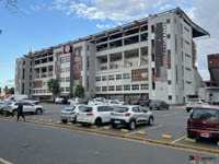
[[[200,98],[189,98],[186,103],[186,112],[189,113],[194,107],[200,107],[208,105],[205,99]]]

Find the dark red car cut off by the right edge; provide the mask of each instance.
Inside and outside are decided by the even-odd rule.
[[[219,140],[219,106],[193,108],[187,120],[187,137]]]

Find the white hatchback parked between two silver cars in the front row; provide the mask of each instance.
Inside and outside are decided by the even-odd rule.
[[[113,107],[107,105],[84,105],[79,107],[77,122],[101,126],[111,122],[111,113]]]

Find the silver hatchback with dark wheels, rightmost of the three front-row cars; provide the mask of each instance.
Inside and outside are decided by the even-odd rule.
[[[138,105],[117,106],[112,113],[112,127],[116,128],[118,125],[125,125],[130,130],[134,130],[137,125],[153,125],[153,114]]]

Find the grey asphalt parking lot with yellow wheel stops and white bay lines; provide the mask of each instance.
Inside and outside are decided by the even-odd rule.
[[[126,127],[118,127],[117,129],[112,129],[111,125],[104,125],[101,127],[95,126],[81,126],[79,124],[62,124],[59,120],[59,115],[65,105],[56,104],[43,104],[45,113],[43,115],[28,115],[26,121],[33,124],[42,124],[48,126],[58,125],[59,127],[72,127],[73,130],[90,130],[88,132],[96,132],[118,137],[116,134],[130,137],[128,139],[147,139],[147,141],[152,141],[153,143],[180,143],[182,145],[188,145],[193,148],[204,148],[208,150],[218,150],[219,145],[217,141],[199,139],[196,142],[186,140],[186,120],[188,118],[188,113],[186,113],[185,107],[177,106],[171,107],[169,110],[152,110],[154,114],[153,126],[140,126],[135,130],[127,130]],[[183,148],[183,147],[182,147]]]

